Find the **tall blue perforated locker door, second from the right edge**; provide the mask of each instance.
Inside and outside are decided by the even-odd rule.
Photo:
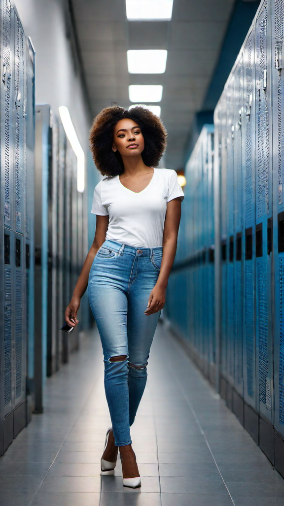
[[[255,28],[256,85],[256,342],[258,351],[259,411],[273,417],[271,324],[271,164],[270,111],[267,86],[267,3]]]

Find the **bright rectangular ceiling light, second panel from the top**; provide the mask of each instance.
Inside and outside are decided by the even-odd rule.
[[[127,65],[130,74],[163,74],[168,52],[165,49],[130,49]]]

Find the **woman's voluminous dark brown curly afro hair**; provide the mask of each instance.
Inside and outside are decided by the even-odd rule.
[[[94,118],[89,137],[93,161],[103,176],[118,176],[124,171],[120,153],[112,150],[114,127],[124,118],[132,119],[141,129],[145,141],[141,156],[145,165],[157,167],[166,148],[166,129],[149,109],[141,106],[130,110],[117,105],[106,107]]]

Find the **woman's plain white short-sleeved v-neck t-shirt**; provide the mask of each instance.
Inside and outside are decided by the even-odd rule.
[[[177,174],[168,168],[154,168],[149,185],[135,193],[119,176],[103,179],[93,192],[91,213],[109,215],[106,239],[133,247],[162,246],[167,202],[181,197]]]

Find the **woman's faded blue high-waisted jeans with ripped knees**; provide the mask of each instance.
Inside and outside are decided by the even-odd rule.
[[[106,240],[94,257],[88,297],[101,336],[105,391],[115,444],[131,443],[130,426],[147,381],[147,360],[160,311],[146,316],[162,246],[136,248]],[[113,357],[126,356],[112,362]]]

